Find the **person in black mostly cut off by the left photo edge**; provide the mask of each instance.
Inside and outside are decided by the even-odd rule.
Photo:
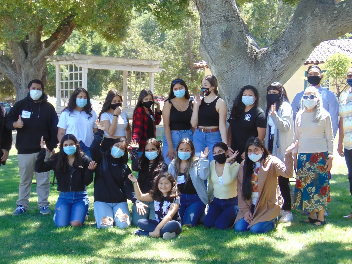
[[[0,166],[5,165],[8,158],[8,152],[12,146],[12,131],[5,126],[7,117],[6,109],[0,105]]]

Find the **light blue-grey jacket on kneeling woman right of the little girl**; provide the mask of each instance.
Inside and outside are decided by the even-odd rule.
[[[170,163],[168,172],[175,177],[175,159]],[[207,180],[209,177],[209,159],[201,158],[197,162],[193,163],[191,169],[189,170],[189,175],[191,176],[193,186],[196,189],[199,198],[205,205],[207,205],[208,194],[204,180]]]

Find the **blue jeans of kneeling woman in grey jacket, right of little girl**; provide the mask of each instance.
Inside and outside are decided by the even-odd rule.
[[[204,214],[206,205],[200,200],[198,194],[180,194],[180,213],[182,224],[195,226]]]

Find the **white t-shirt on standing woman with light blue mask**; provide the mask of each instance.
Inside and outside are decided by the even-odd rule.
[[[84,111],[74,110],[70,114],[70,111],[65,110],[61,113],[57,126],[65,129],[66,134],[73,134],[78,142],[82,141],[84,145],[90,147],[94,139],[93,127],[97,128],[95,120],[98,119],[94,110],[91,114],[92,117],[89,117]]]

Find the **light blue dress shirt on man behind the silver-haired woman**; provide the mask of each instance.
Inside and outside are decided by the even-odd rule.
[[[332,121],[332,130],[334,132],[334,137],[336,136],[337,133],[337,129],[339,127],[339,102],[337,100],[337,96],[323,88],[321,85],[317,88],[321,98],[323,100],[323,107],[325,108],[326,111],[329,112],[330,116],[331,116],[331,121]],[[296,121],[296,114],[298,112],[298,110],[300,109],[301,105],[301,98],[304,94],[304,91],[296,94],[295,98],[293,99],[291,106],[292,106],[292,110],[293,110],[293,121]]]

